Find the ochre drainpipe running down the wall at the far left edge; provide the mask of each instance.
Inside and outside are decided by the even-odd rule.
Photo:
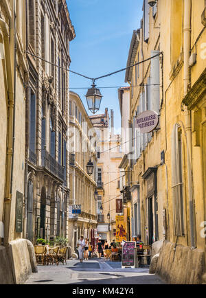
[[[14,0],[14,43],[16,35],[16,21],[15,21],[15,0]],[[16,82],[16,59],[14,58],[14,82],[12,80],[12,57],[10,56],[10,38],[7,30],[7,25],[3,19],[0,19],[0,28],[3,33],[3,43],[5,52],[5,67],[7,73],[8,86],[8,128],[7,128],[7,156],[6,156],[6,172],[5,172],[5,199],[3,207],[3,223],[4,223],[4,244],[7,246],[9,242],[10,231],[10,209],[12,200],[12,172],[13,172],[13,154],[14,154],[14,118],[15,118],[15,87]],[[16,49],[14,49],[14,57],[16,56]]]

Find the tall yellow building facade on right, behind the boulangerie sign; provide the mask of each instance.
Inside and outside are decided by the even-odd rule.
[[[163,241],[157,273],[171,283],[201,283],[206,211],[205,1],[158,0],[152,8],[143,2],[128,66],[150,60],[126,71],[133,136],[133,156],[124,163],[132,194],[130,218],[141,222],[146,244]],[[159,125],[152,133],[141,134],[135,131],[135,118],[147,110],[158,113]],[[130,225],[132,236],[135,225]]]

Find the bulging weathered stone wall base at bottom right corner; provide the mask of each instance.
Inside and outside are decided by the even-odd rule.
[[[205,273],[205,253],[164,241],[155,273],[168,284],[202,284]]]

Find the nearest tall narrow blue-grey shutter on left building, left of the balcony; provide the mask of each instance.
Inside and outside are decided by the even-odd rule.
[[[30,93],[30,150],[36,151],[36,94]]]

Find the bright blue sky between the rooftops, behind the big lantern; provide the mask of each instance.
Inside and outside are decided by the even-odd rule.
[[[142,17],[142,0],[67,0],[76,38],[70,43],[72,71],[97,78],[126,67],[133,30]],[[126,86],[125,71],[96,81],[97,87]],[[78,93],[87,108],[87,89],[91,81],[70,73],[71,90]],[[115,128],[121,126],[117,89],[100,89],[100,112],[114,110]],[[89,115],[91,113],[88,111]]]

